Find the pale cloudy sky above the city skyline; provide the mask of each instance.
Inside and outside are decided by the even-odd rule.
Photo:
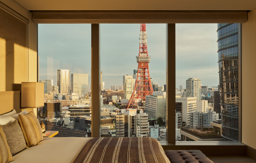
[[[176,88],[198,77],[202,85],[218,85],[217,24],[176,24]],[[166,24],[146,24],[150,77],[166,84]],[[100,24],[102,81],[105,88],[123,85],[122,77],[138,69],[140,24]],[[53,79],[56,70],[89,74],[91,25],[38,25],[39,79]]]

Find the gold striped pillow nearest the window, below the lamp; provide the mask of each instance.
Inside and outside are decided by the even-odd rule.
[[[19,114],[19,123],[28,147],[35,146],[43,140],[43,133],[34,111],[26,115]]]

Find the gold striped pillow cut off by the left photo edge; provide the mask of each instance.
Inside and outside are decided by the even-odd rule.
[[[9,145],[6,140],[6,136],[3,132],[3,129],[0,124],[0,162],[11,162],[12,155],[9,148]]]

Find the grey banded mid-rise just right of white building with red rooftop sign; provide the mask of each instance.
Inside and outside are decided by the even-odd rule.
[[[140,135],[142,137],[148,137],[149,135],[149,122],[148,122],[148,114],[141,113],[137,114],[137,126],[140,128]]]

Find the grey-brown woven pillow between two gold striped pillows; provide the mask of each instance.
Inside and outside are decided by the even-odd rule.
[[[2,125],[3,132],[6,135],[12,156],[27,148],[26,141],[17,120],[11,124]]]

